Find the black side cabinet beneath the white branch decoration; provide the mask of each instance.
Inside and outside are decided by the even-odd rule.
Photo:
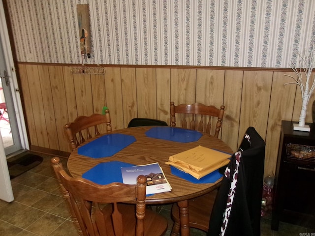
[[[311,132],[293,130],[282,121],[274,186],[271,229],[279,221],[315,228],[315,126]]]

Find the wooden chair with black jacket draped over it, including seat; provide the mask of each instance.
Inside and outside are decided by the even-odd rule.
[[[189,226],[207,236],[259,236],[265,142],[253,127],[231,156],[219,190],[189,200]],[[171,236],[180,230],[179,208],[173,205]]]

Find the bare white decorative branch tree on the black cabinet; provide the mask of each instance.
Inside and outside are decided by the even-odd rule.
[[[291,61],[290,66],[291,66],[291,69],[294,71],[296,78],[294,78],[291,75],[284,74],[285,76],[288,76],[294,80],[294,82],[285,83],[284,85],[295,84],[295,85],[298,85],[301,89],[302,108],[301,108],[301,114],[299,118],[299,126],[302,126],[302,127],[305,125],[307,105],[315,89],[315,76],[313,77],[313,81],[311,79],[312,71],[315,67],[314,53],[315,53],[314,43],[312,45],[311,52],[308,56],[305,53],[303,56],[300,53],[297,53],[299,62],[300,62],[299,64],[300,66],[302,66],[302,69],[301,67],[298,69],[297,65],[293,61]]]

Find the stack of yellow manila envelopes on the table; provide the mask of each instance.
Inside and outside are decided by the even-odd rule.
[[[170,156],[166,164],[200,179],[227,165],[230,156],[230,154],[221,151],[198,146]]]

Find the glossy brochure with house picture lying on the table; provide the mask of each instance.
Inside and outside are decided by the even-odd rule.
[[[137,177],[144,175],[147,178],[146,194],[155,194],[171,191],[172,187],[167,181],[162,168],[158,163],[141,166],[122,167],[123,183],[136,184]]]

